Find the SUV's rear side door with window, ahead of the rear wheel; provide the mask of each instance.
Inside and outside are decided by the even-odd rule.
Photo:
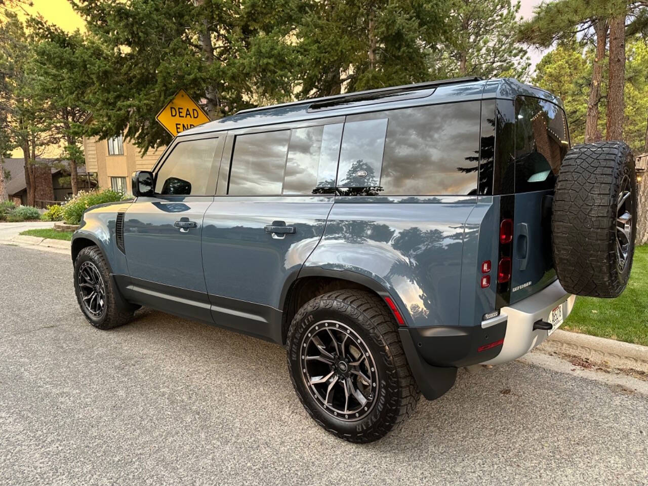
[[[228,132],[202,237],[217,325],[281,341],[281,292],[323,234],[343,121]]]

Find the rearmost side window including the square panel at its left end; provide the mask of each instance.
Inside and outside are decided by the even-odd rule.
[[[480,110],[479,101],[470,101],[348,117],[340,151],[340,192],[476,194]]]

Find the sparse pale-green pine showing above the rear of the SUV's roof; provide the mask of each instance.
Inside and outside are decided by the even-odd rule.
[[[528,74],[526,49],[515,41],[520,2],[511,0],[452,0],[445,20],[446,40],[430,54],[437,78],[512,76]]]

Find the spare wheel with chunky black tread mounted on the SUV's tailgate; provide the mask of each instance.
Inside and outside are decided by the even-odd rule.
[[[571,294],[617,297],[632,268],[636,174],[620,141],[577,145],[562,161],[553,197],[553,260]]]

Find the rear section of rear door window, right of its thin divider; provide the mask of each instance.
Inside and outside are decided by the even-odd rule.
[[[316,187],[335,186],[341,134],[341,123],[292,130],[283,194],[312,194]]]

